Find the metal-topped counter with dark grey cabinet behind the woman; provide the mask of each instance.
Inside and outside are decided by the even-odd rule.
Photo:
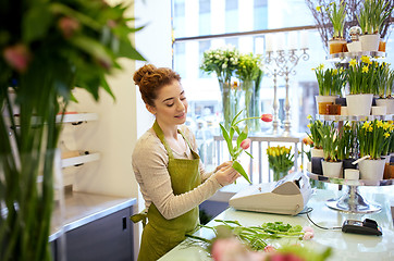
[[[131,260],[135,198],[75,192],[57,201],[49,241],[53,260]],[[63,240],[65,239],[65,240]],[[62,251],[65,250],[65,251]]]

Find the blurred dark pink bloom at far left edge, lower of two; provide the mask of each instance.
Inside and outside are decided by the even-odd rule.
[[[30,61],[30,53],[28,52],[27,47],[22,44],[7,47],[3,51],[3,57],[11,67],[20,73],[26,71],[28,62]]]

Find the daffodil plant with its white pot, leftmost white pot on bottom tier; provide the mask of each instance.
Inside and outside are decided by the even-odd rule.
[[[342,161],[338,160],[337,147],[340,139],[334,122],[322,125],[322,127],[319,128],[319,133],[322,138],[324,151],[324,160],[321,163],[323,175],[328,177],[340,177],[342,173]]]

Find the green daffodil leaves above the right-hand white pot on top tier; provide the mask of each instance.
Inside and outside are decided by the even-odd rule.
[[[385,0],[365,0],[357,21],[364,34],[378,34],[382,32],[383,23],[391,17],[393,7]]]

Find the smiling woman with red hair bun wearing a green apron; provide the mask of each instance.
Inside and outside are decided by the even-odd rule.
[[[193,233],[199,223],[198,206],[239,174],[224,162],[207,173],[186,121],[187,100],[181,77],[171,69],[149,64],[134,74],[153,126],[137,141],[133,170],[147,213],[132,216],[144,226],[138,260],[157,260]]]

